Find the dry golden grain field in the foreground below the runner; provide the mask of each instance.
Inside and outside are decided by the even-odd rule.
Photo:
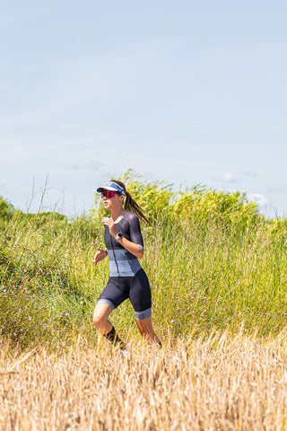
[[[285,430],[287,356],[282,338],[244,336],[132,343],[101,341],[62,354],[0,350],[1,431]]]

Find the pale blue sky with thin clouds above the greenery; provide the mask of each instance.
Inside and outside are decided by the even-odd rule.
[[[287,214],[285,1],[0,2],[0,195],[81,214],[143,178]]]

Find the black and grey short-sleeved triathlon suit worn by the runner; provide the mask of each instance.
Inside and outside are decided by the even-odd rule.
[[[137,216],[127,211],[116,224],[118,233],[143,249],[143,236]],[[130,299],[137,321],[152,316],[152,294],[149,280],[134,254],[130,253],[109,233],[105,225],[105,244],[109,254],[109,281],[98,303],[108,303],[114,310]]]

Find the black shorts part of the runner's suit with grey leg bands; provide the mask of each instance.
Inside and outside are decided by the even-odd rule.
[[[98,303],[108,303],[114,310],[129,298],[137,321],[152,316],[152,294],[143,268],[134,277],[109,277],[108,285],[100,294]]]

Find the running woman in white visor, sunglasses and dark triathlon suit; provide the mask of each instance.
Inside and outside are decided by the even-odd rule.
[[[141,207],[126,191],[123,182],[110,180],[97,191],[101,193],[104,207],[109,210],[110,216],[102,219],[107,249],[97,249],[92,263],[97,265],[109,256],[109,281],[96,303],[93,324],[115,346],[125,347],[109,321],[109,314],[129,298],[143,338],[150,344],[161,346],[160,339],[152,329],[149,280],[138,261],[143,258],[143,236],[138,217],[145,222],[147,219],[143,216]]]

